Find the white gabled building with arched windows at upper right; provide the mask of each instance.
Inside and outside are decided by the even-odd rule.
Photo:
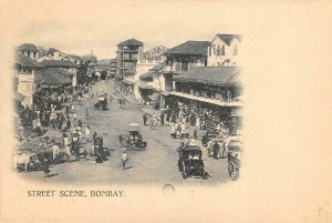
[[[239,34],[216,34],[208,48],[208,67],[239,65]]]

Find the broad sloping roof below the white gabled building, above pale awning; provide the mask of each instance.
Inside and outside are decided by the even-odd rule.
[[[238,67],[199,67],[173,78],[178,82],[198,82],[207,84],[228,84],[238,81],[241,69]]]

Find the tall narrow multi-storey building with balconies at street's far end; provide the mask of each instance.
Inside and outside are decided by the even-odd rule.
[[[143,42],[129,39],[117,44],[117,69],[118,74],[124,75],[124,71],[135,69],[138,52],[143,52]]]

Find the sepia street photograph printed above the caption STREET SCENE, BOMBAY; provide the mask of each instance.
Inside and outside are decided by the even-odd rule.
[[[241,41],[145,49],[131,38],[107,59],[18,45],[14,171],[69,183],[237,180]]]

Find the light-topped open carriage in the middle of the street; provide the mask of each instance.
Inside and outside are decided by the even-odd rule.
[[[147,143],[143,141],[138,123],[129,123],[128,134],[120,134],[121,146],[127,150],[145,150]]]

